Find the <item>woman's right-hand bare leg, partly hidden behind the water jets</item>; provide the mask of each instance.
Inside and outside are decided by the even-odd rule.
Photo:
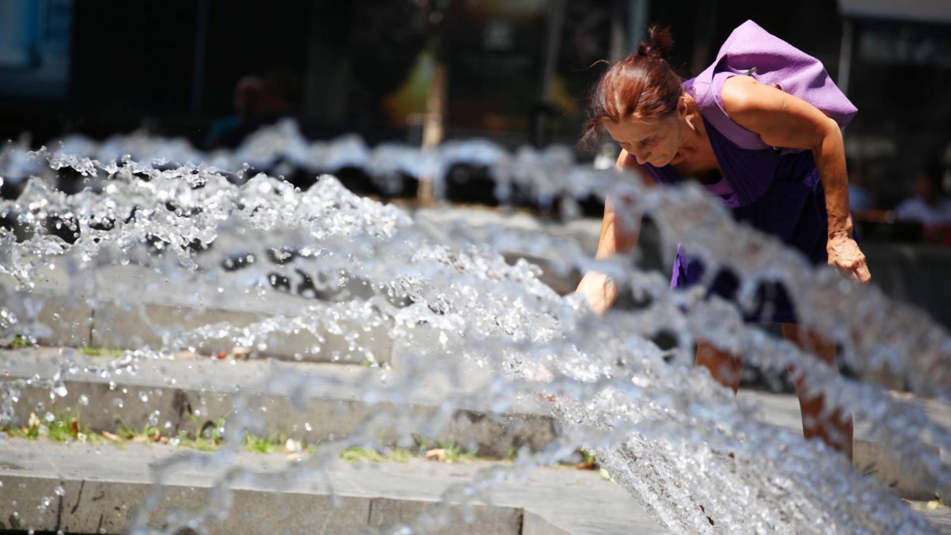
[[[815,354],[831,367],[836,367],[835,344],[827,342],[808,329],[801,329],[795,324],[783,324],[783,337],[786,340]],[[789,367],[789,373],[795,369]],[[831,415],[823,417],[823,396],[805,397],[805,380],[800,377],[795,381],[796,395],[799,396],[799,408],[803,413],[803,435],[806,439],[819,437],[825,444],[842,451],[852,460],[852,415],[843,415],[836,410]]]

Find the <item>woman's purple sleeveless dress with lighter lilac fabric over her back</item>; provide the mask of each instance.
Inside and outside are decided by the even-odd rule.
[[[751,72],[753,68],[759,74]],[[847,124],[857,109],[835,87],[818,60],[752,21],[733,30],[713,65],[684,82],[685,89],[694,95],[723,173],[719,183],[706,186],[708,191],[730,208],[737,221],[776,236],[802,251],[812,264],[823,265],[827,260],[828,218],[812,152],[769,147],[758,134],[728,117],[720,95],[723,83],[737,74],[752,75],[760,83],[802,98],[840,126]],[[685,180],[670,166],[646,164],[642,168],[661,184]],[[689,287],[703,275],[703,264],[678,249],[670,286]],[[708,293],[735,298],[739,281],[731,271],[721,269],[708,280]],[[779,283],[759,287],[756,306],[744,310],[744,317],[749,322],[796,323],[792,299]]]

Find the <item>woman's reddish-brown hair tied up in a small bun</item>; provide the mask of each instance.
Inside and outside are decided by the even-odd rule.
[[[673,46],[670,30],[650,27],[650,37],[637,52],[615,63],[592,90],[588,121],[579,145],[591,146],[605,121],[614,123],[638,112],[641,116],[665,115],[677,109],[683,92],[681,78],[664,61]]]

